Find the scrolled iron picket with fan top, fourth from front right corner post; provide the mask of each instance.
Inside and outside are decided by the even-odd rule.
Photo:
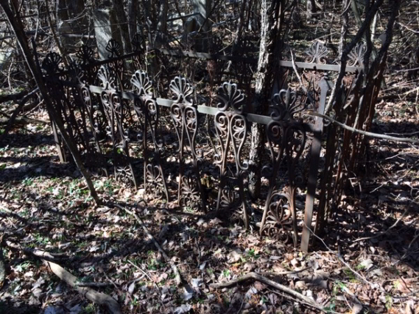
[[[144,187],[147,193],[156,197],[166,197],[169,200],[166,177],[161,165],[163,143],[158,140],[159,107],[153,96],[153,84],[147,73],[137,70],[131,77],[135,92],[134,110],[140,122],[138,141],[142,142],[144,151]],[[147,144],[147,134],[152,137],[154,151],[150,152]]]

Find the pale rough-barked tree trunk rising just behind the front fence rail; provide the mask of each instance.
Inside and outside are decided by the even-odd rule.
[[[279,59],[280,45],[277,38],[279,38],[284,20],[284,0],[262,0],[260,4],[260,49],[256,72],[254,107],[256,114],[265,114],[268,109],[274,72],[279,66],[277,61]],[[260,195],[260,169],[264,137],[265,128],[263,125],[252,124],[249,156],[249,192],[253,199],[258,198]]]

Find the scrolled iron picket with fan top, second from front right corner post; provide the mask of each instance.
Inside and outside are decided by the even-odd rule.
[[[249,227],[246,202],[244,198],[244,173],[249,168],[247,161],[242,160],[242,148],[247,138],[247,119],[244,116],[244,95],[237,84],[225,82],[217,94],[219,112],[214,116],[216,138],[219,151],[214,155],[214,163],[220,170],[219,193],[216,210],[230,209],[240,204],[244,225]],[[229,177],[227,159],[232,152],[235,159],[235,173]],[[233,184],[228,184],[233,181]],[[235,190],[234,186],[238,186]]]

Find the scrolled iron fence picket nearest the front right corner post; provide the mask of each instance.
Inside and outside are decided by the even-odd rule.
[[[272,177],[260,234],[268,234],[284,242],[292,238],[294,246],[297,246],[295,193],[299,178],[295,169],[306,144],[306,133],[302,121],[295,120],[294,115],[305,107],[291,89],[282,89],[275,94],[271,107],[272,121],[266,126],[266,134],[272,158]],[[288,186],[280,190],[277,175],[283,162],[287,164]]]

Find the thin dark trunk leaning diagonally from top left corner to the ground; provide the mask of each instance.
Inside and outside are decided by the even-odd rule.
[[[47,106],[47,110],[50,114],[51,119],[59,128],[59,131],[62,137],[64,138],[64,141],[66,142],[68,149],[73,155],[75,164],[78,166],[78,169],[80,170],[84,179],[86,180],[87,186],[90,190],[91,197],[94,198],[96,204],[100,204],[101,200],[99,200],[96,190],[94,189],[89,172],[87,171],[86,168],[84,168],[84,165],[80,158],[80,154],[78,152],[78,148],[73,142],[73,140],[71,140],[71,137],[68,136],[66,128],[64,127],[64,124],[62,123],[61,119],[59,118],[59,115],[55,111],[50,101],[47,88],[45,87],[45,83],[43,82],[43,76],[41,74],[41,71],[36,67],[34,58],[32,57],[32,54],[31,54],[31,50],[29,49],[29,45],[27,43],[27,37],[24,33],[22,20],[20,19],[19,13],[16,12],[16,8],[13,8],[13,11],[15,12],[15,14],[13,13],[12,8],[10,8],[7,0],[0,0],[0,6],[1,8],[3,8],[4,13],[6,13],[8,22],[10,23],[10,26],[13,29],[13,32],[15,33],[17,42],[19,43],[20,48],[22,49],[24,59],[26,60],[27,65],[29,69],[31,70],[31,73],[34,77],[34,80],[36,84],[38,85],[38,89],[44,98],[45,105]]]

